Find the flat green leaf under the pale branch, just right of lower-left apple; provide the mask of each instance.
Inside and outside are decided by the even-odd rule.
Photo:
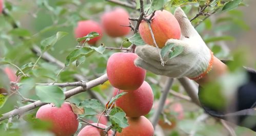
[[[92,109],[105,109],[105,107],[101,104],[101,102],[96,99],[86,99],[79,103],[79,107],[86,107],[86,108],[92,108]]]

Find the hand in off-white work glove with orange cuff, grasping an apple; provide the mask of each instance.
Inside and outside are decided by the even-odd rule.
[[[180,40],[169,39],[165,44],[182,46],[183,52],[172,59],[168,59],[167,53],[163,57],[164,61],[167,60],[163,66],[157,48],[138,46],[135,53],[139,57],[135,60],[135,65],[157,75],[198,80],[211,70],[214,56],[181,8],[175,10],[174,16],[179,21],[182,36]]]

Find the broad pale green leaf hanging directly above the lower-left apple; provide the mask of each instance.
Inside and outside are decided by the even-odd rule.
[[[35,93],[42,102],[53,103],[57,107],[61,107],[65,100],[62,89],[56,85],[37,85]]]

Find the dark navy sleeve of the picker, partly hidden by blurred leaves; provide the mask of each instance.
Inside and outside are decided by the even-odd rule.
[[[216,109],[203,102],[202,92],[204,88],[199,87],[199,100],[204,110],[211,116],[227,120],[228,122],[250,128],[256,131],[256,72],[246,69],[248,82],[237,90],[237,99],[232,103],[232,112],[226,109]]]

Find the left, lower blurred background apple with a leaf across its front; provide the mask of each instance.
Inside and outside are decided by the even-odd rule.
[[[78,21],[77,27],[74,30],[74,34],[76,38],[84,37],[91,32],[97,32],[100,34],[100,36],[87,41],[89,44],[94,45],[102,37],[102,28],[96,21],[93,21],[93,20]]]

